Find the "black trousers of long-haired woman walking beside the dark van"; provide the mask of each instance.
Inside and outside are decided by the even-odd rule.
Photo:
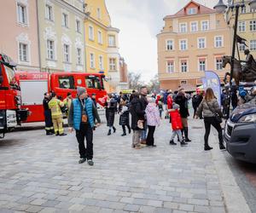
[[[215,117],[205,117],[204,123],[205,123],[205,129],[206,129],[205,146],[208,145],[208,138],[209,138],[209,135],[211,132],[211,125],[218,131],[219,144],[223,144],[222,128],[221,128],[220,124],[216,121]]]

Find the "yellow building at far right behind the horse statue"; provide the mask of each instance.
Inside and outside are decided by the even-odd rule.
[[[236,0],[236,3],[241,3],[241,0]],[[241,44],[239,45],[239,55],[241,60],[245,60],[244,50],[250,49],[251,54],[254,59],[256,58],[256,11],[251,9],[249,6],[250,1],[245,1],[245,8],[240,10],[238,17],[238,26],[237,26],[237,34],[240,37],[243,37],[247,40],[247,46]],[[235,14],[226,14],[227,23],[230,25],[230,28],[234,26]],[[233,31],[231,37],[233,37]],[[232,40],[232,38],[231,38]],[[236,51],[236,58],[239,58],[239,55]]]

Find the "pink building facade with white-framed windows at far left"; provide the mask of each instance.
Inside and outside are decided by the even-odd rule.
[[[36,0],[1,3],[0,52],[9,55],[20,71],[39,71],[37,12]]]

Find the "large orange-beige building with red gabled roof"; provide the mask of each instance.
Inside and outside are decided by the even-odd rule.
[[[167,15],[158,39],[158,72],[161,89],[182,86],[195,90],[205,71],[224,77],[223,55],[230,55],[230,27],[224,15],[190,1],[177,14]]]

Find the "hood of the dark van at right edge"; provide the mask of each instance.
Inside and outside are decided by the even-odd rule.
[[[236,107],[230,116],[230,120],[234,123],[237,123],[242,116],[253,113],[256,113],[256,98],[254,98],[252,101],[242,104],[239,107]]]

